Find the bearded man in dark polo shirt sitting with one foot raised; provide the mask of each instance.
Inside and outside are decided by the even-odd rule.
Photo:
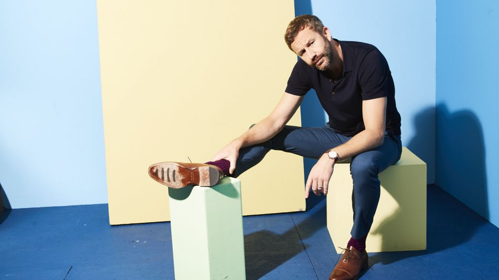
[[[379,201],[378,173],[397,162],[402,152],[391,72],[376,47],[333,39],[330,30],[313,15],[294,18],[284,39],[300,59],[270,115],[206,164],[158,163],[150,167],[149,174],[170,187],[190,183],[211,186],[224,174],[239,176],[270,149],[283,150],[318,158],[305,184],[308,198],[310,190],[318,196],[327,195],[334,164],[351,158],[352,237],[330,279],[356,279],[368,268],[365,242]],[[319,128],[286,126],[310,88],[315,89],[329,123]]]

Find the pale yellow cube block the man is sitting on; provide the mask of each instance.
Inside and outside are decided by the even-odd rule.
[[[371,231],[369,253],[426,250],[426,163],[408,148],[379,174],[380,199]],[[353,226],[350,163],[334,165],[327,194],[327,229],[338,246],[346,246]]]

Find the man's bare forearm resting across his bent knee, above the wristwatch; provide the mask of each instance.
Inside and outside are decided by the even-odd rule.
[[[343,160],[381,146],[383,144],[383,139],[384,134],[380,134],[380,132],[364,130],[347,142],[333,147],[332,150],[338,153],[338,160]]]

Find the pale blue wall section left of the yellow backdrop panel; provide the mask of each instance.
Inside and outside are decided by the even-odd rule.
[[[107,202],[99,67],[95,1],[0,1],[7,206]]]

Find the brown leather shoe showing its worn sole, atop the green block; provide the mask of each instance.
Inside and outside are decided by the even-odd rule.
[[[224,172],[205,163],[160,162],[149,166],[149,176],[165,186],[179,189],[190,184],[214,186],[224,177]]]

